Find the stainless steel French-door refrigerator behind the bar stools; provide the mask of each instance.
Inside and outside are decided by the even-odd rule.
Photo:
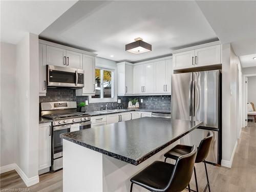
[[[219,70],[172,75],[172,118],[203,121],[203,125],[181,139],[181,144],[199,145],[208,134],[214,133],[206,159],[212,164],[221,162],[221,72]]]

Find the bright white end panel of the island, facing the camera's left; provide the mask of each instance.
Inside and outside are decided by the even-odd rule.
[[[63,139],[63,192],[103,191],[102,154]]]

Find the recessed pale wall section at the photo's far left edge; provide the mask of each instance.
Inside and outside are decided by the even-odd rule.
[[[1,42],[1,161],[0,166],[15,163],[15,66],[16,46]]]

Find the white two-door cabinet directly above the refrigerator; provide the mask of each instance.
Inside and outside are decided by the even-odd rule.
[[[221,45],[206,46],[173,54],[174,70],[221,64]],[[196,46],[195,48],[197,48]]]

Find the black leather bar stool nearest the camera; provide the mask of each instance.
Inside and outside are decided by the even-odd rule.
[[[180,156],[176,164],[155,161],[131,178],[131,192],[133,184],[140,185],[150,191],[182,191],[188,186],[193,174],[193,167],[197,156],[197,147]]]

